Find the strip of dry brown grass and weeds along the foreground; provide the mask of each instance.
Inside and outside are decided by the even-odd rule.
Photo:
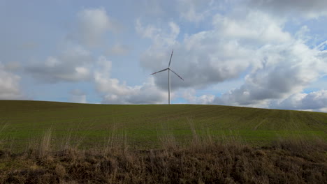
[[[194,130],[194,129],[192,129]],[[324,140],[279,139],[255,148],[230,139],[198,136],[180,145],[167,132],[161,148],[133,150],[126,134],[106,145],[51,148],[51,130],[23,153],[0,151],[0,183],[325,183]]]

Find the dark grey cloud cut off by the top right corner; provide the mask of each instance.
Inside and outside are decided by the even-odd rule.
[[[327,15],[327,1],[325,0],[249,0],[246,2],[250,8],[268,10],[275,15],[302,15],[308,18]]]

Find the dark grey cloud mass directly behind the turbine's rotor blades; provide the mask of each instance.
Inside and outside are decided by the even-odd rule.
[[[210,45],[205,45],[205,47],[209,49]],[[198,51],[196,48],[189,52],[185,52],[183,49],[177,47],[170,67],[183,77],[184,81],[172,74],[173,89],[189,86],[203,87],[208,84],[222,82],[226,79],[233,79],[238,77],[240,72],[247,68],[248,63],[242,63],[242,61],[244,61],[242,58],[237,58],[238,56],[235,56],[233,59],[222,59],[221,56],[219,56],[221,52],[216,52],[211,56],[205,56],[204,53],[201,53],[201,51]],[[152,57],[152,59],[148,60],[151,61],[150,64],[159,63],[156,66],[161,66],[161,68],[156,67],[157,69],[152,70],[153,72],[168,67],[170,53],[164,53],[166,53],[166,56],[161,57],[164,59],[159,60],[159,58],[156,59]],[[221,59],[216,59],[216,57],[220,57]],[[237,64],[238,61],[240,61],[240,64]],[[145,64],[147,63],[143,63],[143,65]],[[233,64],[238,66],[228,66]],[[161,89],[166,89],[168,82],[167,72],[158,73],[155,75],[155,78],[156,84],[158,84]]]

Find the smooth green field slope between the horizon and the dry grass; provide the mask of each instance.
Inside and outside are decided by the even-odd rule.
[[[268,144],[280,137],[327,139],[327,114],[220,105],[89,105],[0,100],[0,146],[26,148],[51,128],[52,143],[66,139],[101,146],[114,132],[131,146],[154,148],[167,132],[187,141],[192,131]],[[82,139],[82,140],[81,140]]]

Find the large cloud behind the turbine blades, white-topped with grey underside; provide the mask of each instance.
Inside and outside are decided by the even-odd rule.
[[[217,14],[212,19],[213,29],[186,35],[178,42],[178,31],[162,31],[162,28],[150,24],[138,31],[152,40],[140,63],[151,72],[166,68],[169,52],[174,49],[172,67],[185,79],[184,82],[174,82],[175,88],[205,87],[235,79],[260,62],[261,47],[291,41],[290,34],[282,31],[281,25],[282,21],[260,12],[244,17]],[[170,38],[166,42],[169,44],[162,44],[165,42],[159,38]],[[166,85],[163,75],[156,75],[155,79],[161,88]]]

